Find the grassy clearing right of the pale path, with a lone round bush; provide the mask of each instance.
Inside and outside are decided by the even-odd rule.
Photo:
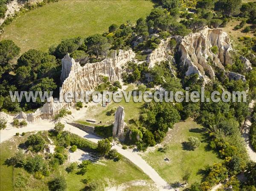
[[[194,151],[183,150],[182,143],[187,141],[189,136],[198,137],[201,140],[201,145]],[[191,171],[189,183],[200,182],[203,177],[198,173],[200,169],[204,169],[207,164],[221,162],[214,151],[208,150],[208,142],[205,138],[202,126],[188,119],[185,122],[176,123],[168,132],[163,141],[163,144],[169,145],[166,153],[151,151],[144,153],[142,157],[171,184],[176,181],[184,183],[182,176],[186,170]],[[170,160],[169,162],[164,161],[166,157]]]

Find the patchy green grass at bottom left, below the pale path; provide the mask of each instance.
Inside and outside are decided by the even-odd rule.
[[[1,191],[49,191],[47,182],[52,180],[53,177],[62,175],[67,181],[67,191],[82,190],[84,183],[82,179],[88,178],[90,180],[98,181],[105,185],[105,187],[112,187],[115,185],[125,184],[128,191],[148,191],[151,189],[152,181],[146,176],[137,166],[133,165],[129,160],[125,158],[113,162],[113,160],[100,160],[101,164],[90,165],[89,171],[82,175],[76,174],[76,171],[67,173],[64,169],[68,165],[65,163],[61,165],[58,170],[55,170],[49,177],[44,177],[42,180],[37,180],[32,174],[26,172],[23,168],[14,168],[13,166],[7,166],[4,164],[5,160],[12,157],[17,150],[17,145],[24,143],[29,133],[26,133],[23,137],[13,137],[12,140],[1,143],[0,145],[0,190]],[[26,177],[27,183],[25,188],[15,187],[17,178]],[[148,186],[141,188],[137,185],[132,185],[134,181],[144,180]]]

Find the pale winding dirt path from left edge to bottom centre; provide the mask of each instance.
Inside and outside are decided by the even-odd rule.
[[[76,128],[72,125],[69,125],[66,123],[67,120],[62,120],[62,123],[65,124],[65,131],[70,131],[73,134],[77,134],[80,137],[83,137],[85,139],[88,139],[92,141],[93,143],[97,143],[99,140],[101,140],[100,137],[97,137],[92,134],[88,134],[85,131],[82,131],[79,128]],[[15,128],[8,126],[6,129],[0,131],[0,143],[9,140],[12,138],[17,132],[31,132],[31,131],[48,131],[50,129],[54,128],[54,123],[49,122],[48,120],[41,120],[37,123],[31,123],[28,124],[26,127],[23,128]],[[122,154],[124,157],[128,158],[131,162],[133,162],[135,165],[137,165],[145,174],[148,175],[148,177],[151,178],[151,180],[154,181],[157,189],[159,191],[175,191],[175,189],[171,188],[168,183],[163,180],[159,174],[150,166],[148,165],[145,160],[143,160],[142,157],[140,157],[136,152],[134,152],[132,149],[122,149],[121,145],[113,145],[112,148],[115,148],[120,154]]]

